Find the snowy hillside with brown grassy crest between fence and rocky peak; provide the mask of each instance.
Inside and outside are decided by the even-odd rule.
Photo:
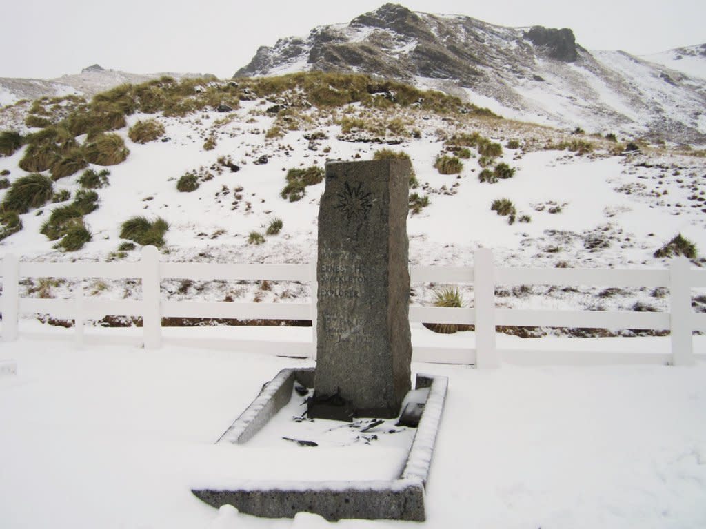
[[[135,87],[129,93],[141,94],[131,96],[139,105],[145,105],[145,97],[152,93],[145,90],[174,90],[183,94],[181,105],[213,97],[235,108],[219,112],[199,104],[184,116],[164,116],[167,111],[126,116],[124,125],[117,123],[117,130],[108,134],[124,142],[129,151],[126,160],[74,167],[73,174],[56,178],[52,193],[58,202],[20,213],[23,228],[0,241],[0,250],[32,260],[134,260],[140,245],[121,238],[122,225],[131,217],[145,216],[160,217],[169,224],[164,260],[309,262],[316,251],[318,199],[324,183],[301,185],[292,196],[285,192],[289,171],[309,169],[316,174],[311,168],[323,168],[330,159],[372,159],[383,148],[406,153],[416,173],[408,219],[413,264],[470,264],[474,250],[482,246],[493,248],[496,260],[508,266],[664,267],[669,258],[655,253],[678,234],[694,243],[697,253],[706,250],[703,157],[645,145],[642,150],[623,152],[626,143],[493,118],[482,109],[469,109],[438,94],[423,94],[421,104],[402,104],[404,97],[420,99],[414,89],[402,85],[388,86],[387,91],[378,87],[378,94],[359,102],[317,106],[309,100],[345,99],[349,93],[360,93],[359,89],[345,92],[335,83],[365,87],[366,82],[371,83],[360,77],[300,75],[239,86],[165,80]],[[287,83],[290,87],[282,88]],[[112,97],[126,104],[128,95],[121,93],[102,99]],[[68,107],[61,105],[47,104],[47,108],[65,114]],[[98,104],[97,108],[104,107]],[[71,125],[71,119],[61,123]],[[131,140],[138,123],[150,119],[163,131],[145,143]],[[49,126],[45,133],[51,130],[61,127]],[[95,146],[95,140],[85,134],[71,141],[75,143],[65,145],[75,145],[68,147],[69,152],[79,157],[88,157],[83,153]],[[11,186],[0,191],[0,200],[7,202],[14,184],[30,173],[20,165],[39,163],[32,157],[37,148],[21,147],[0,157],[0,171],[6,174],[2,178]],[[42,174],[63,175],[57,171],[73,167],[74,154],[62,154],[66,157]],[[441,174],[435,168],[439,157],[460,162],[459,172]],[[103,177],[107,186],[85,183],[85,171],[98,178],[104,169],[109,171]],[[496,183],[481,181],[481,177],[494,180],[493,175],[500,175]],[[179,191],[180,181],[191,181],[196,189]],[[90,193],[95,193],[93,198]],[[73,211],[79,197],[80,207],[90,205],[77,219],[90,241],[76,251],[64,251],[57,243],[64,241],[62,230],[68,224],[57,228],[55,217]],[[491,209],[502,199],[511,202],[509,215]],[[266,234],[276,219],[282,221],[281,232]],[[5,222],[9,229],[9,220]],[[54,226],[55,236],[47,225]],[[701,265],[703,260],[696,255],[693,262]],[[174,281],[167,287],[167,296],[282,302],[309,296],[308,289],[297,284],[261,288],[232,283]],[[50,291],[64,296],[68,286],[59,282]],[[24,288],[30,295],[39,295],[39,285],[32,281]],[[138,295],[124,282],[87,288],[95,296]],[[432,303],[435,288],[415,287],[415,303]],[[499,288],[508,306],[664,310],[667,303],[659,289]],[[472,300],[467,288],[462,294],[466,303]],[[695,303],[706,305],[706,297]]]

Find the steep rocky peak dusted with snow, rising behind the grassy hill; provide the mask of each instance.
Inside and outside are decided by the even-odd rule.
[[[690,56],[706,65],[701,49]],[[706,143],[705,80],[693,69],[588,51],[568,28],[504,28],[385,4],[348,24],[260,47],[234,77],[310,70],[438,88],[507,117],[563,128]]]

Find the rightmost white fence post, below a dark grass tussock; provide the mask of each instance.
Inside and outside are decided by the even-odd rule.
[[[693,365],[691,339],[692,310],[691,265],[686,257],[677,257],[669,265],[669,336],[672,365]]]

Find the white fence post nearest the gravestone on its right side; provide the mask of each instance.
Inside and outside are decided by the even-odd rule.
[[[474,256],[473,291],[476,308],[476,367],[499,367],[495,346],[495,278],[493,250],[479,248]]]

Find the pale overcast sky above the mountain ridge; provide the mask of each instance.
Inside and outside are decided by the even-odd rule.
[[[133,73],[229,78],[261,45],[348,22],[382,0],[7,0],[0,6],[0,77],[54,78],[99,63]],[[704,0],[409,0],[505,26],[571,28],[588,49],[650,54],[706,43]]]

